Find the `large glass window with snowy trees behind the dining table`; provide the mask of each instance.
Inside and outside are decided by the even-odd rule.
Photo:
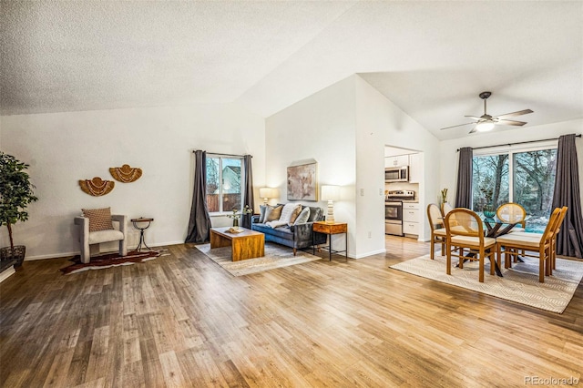
[[[474,211],[516,202],[527,210],[527,231],[543,232],[551,213],[557,148],[475,155],[472,204]]]

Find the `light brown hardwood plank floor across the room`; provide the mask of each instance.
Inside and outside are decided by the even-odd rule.
[[[143,264],[66,276],[66,258],[26,261],[0,284],[0,386],[583,378],[583,284],[555,314],[389,269],[428,253],[411,239],[388,237],[385,255],[238,278],[192,246],[167,248]]]

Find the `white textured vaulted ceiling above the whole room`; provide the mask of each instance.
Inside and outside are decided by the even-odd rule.
[[[269,117],[359,74],[438,138],[583,118],[581,1],[2,1],[2,115],[236,102]],[[512,130],[499,128],[496,130]]]

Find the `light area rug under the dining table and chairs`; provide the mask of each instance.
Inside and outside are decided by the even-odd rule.
[[[491,276],[490,265],[486,261],[483,283],[477,280],[476,261],[465,262],[461,270],[455,267],[457,259],[452,260],[452,263],[451,275],[445,273],[446,260],[439,255],[435,255],[435,260],[425,255],[390,268],[558,313],[565,311],[583,278],[583,261],[576,260],[557,258],[557,270],[553,271],[553,276],[546,276],[544,283],[538,282],[537,259],[525,258],[525,262],[513,263],[512,269],[502,268],[503,277]]]

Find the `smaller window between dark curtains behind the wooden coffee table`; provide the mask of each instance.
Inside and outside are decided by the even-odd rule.
[[[207,154],[207,206],[209,213],[242,209],[243,158]]]

